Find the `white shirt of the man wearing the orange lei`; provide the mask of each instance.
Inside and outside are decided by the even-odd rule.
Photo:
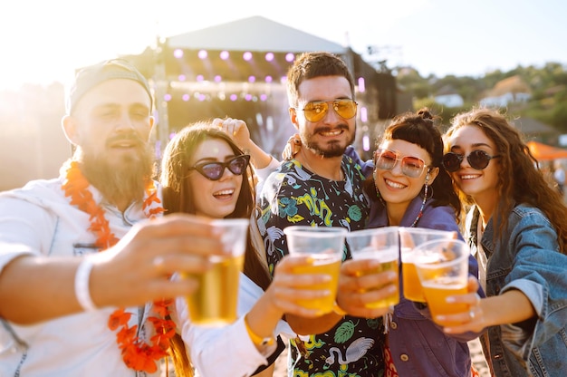
[[[69,204],[62,179],[36,180],[0,194],[0,273],[15,257],[95,253],[89,215]],[[91,188],[93,198],[101,195]],[[130,229],[116,208],[105,208],[116,237]],[[130,223],[146,218],[141,206],[125,211]],[[16,286],[13,289],[17,289]],[[135,376],[122,361],[116,333],[108,328],[116,308],[63,316],[41,324],[0,324],[0,376]],[[138,324],[139,308],[130,325]],[[140,309],[141,311],[141,309]],[[143,374],[142,374],[143,375]]]

